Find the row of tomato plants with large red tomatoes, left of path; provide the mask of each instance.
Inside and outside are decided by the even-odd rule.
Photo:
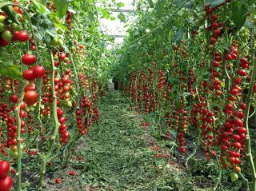
[[[104,43],[113,39],[91,18],[97,11],[95,17],[110,17],[109,7],[90,1],[0,3],[0,158],[10,161],[0,162],[0,190],[13,184],[10,165],[14,188],[22,190],[27,159],[42,189],[51,162],[62,157],[65,166],[99,120],[98,96],[110,78]],[[90,23],[86,32],[84,23]]]

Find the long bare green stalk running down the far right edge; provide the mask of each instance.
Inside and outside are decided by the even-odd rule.
[[[248,119],[250,116],[250,104],[251,104],[251,98],[254,93],[254,82],[255,82],[255,77],[256,77],[256,62],[254,62],[254,33],[255,30],[251,29],[250,30],[250,50],[251,50],[251,65],[254,66],[251,77],[250,77],[250,87],[249,87],[249,92],[246,97],[246,112],[245,112],[245,120],[243,125],[246,127],[247,133],[246,133],[246,150],[247,154],[246,156],[248,157],[248,160],[250,161],[250,169],[252,172],[252,186],[251,186],[251,191],[256,191],[256,170],[254,166],[254,157],[251,152],[251,140],[250,140],[250,129],[249,129],[249,124],[248,124]]]

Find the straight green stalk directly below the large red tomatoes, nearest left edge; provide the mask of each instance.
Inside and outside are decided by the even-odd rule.
[[[22,119],[19,116],[21,110],[22,101],[24,98],[25,92],[23,91],[26,86],[26,82],[23,82],[22,85],[22,94],[18,101],[18,106],[15,111],[17,119],[17,146],[18,146],[18,172],[16,173],[17,177],[17,190],[22,190],[22,142],[21,142],[21,129],[22,129]]]

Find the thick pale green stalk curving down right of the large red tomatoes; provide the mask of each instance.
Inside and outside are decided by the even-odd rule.
[[[49,54],[50,54],[50,60],[51,60],[51,77],[50,77],[50,82],[51,82],[51,89],[52,89],[52,94],[53,94],[53,117],[54,117],[54,133],[50,137],[50,143],[48,145],[48,152],[46,155],[41,156],[42,157],[42,167],[40,171],[40,178],[39,178],[39,185],[38,185],[38,190],[42,190],[42,185],[43,185],[43,177],[46,173],[46,164],[49,162],[52,158],[52,151],[54,149],[54,142],[56,137],[58,136],[58,127],[59,127],[59,122],[58,122],[58,115],[57,115],[57,97],[55,95],[55,89],[54,89],[54,57],[52,54],[52,51],[50,48],[48,48]]]

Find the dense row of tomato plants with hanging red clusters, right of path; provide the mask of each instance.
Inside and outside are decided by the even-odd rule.
[[[198,149],[216,163],[214,190],[223,171],[256,190],[255,129],[248,122],[255,110],[251,5],[142,1],[138,22],[115,50],[120,55],[115,74],[119,88],[130,95],[130,108],[154,114],[159,134],[177,144],[186,166]],[[192,153],[187,139],[194,141]]]

